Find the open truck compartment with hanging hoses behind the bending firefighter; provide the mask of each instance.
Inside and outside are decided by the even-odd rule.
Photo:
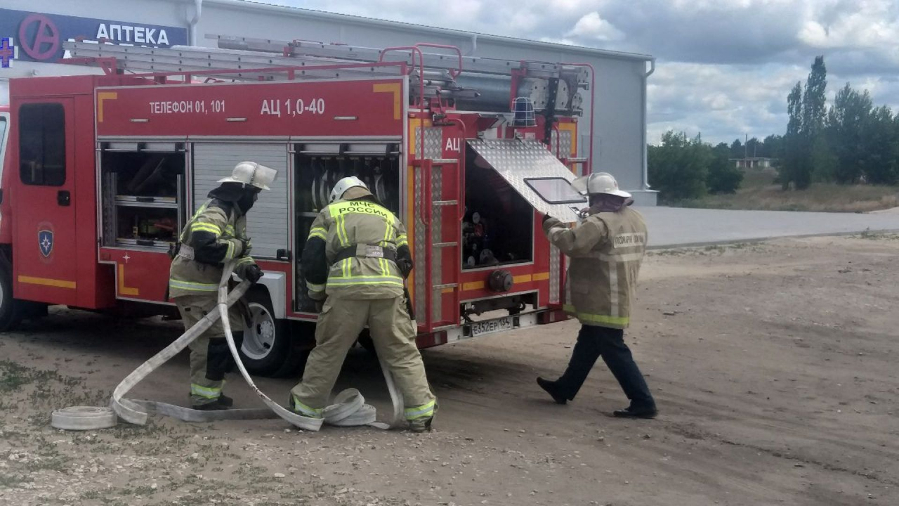
[[[297,311],[315,312],[300,255],[318,212],[325,208],[334,185],[357,176],[390,212],[399,215],[399,144],[396,142],[308,142],[294,151],[294,227],[297,251]]]

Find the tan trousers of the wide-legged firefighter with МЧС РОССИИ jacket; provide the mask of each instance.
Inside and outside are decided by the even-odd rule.
[[[320,416],[337,382],[343,359],[365,325],[378,357],[382,358],[403,394],[407,419],[433,412],[434,395],[415,346],[415,324],[403,297],[351,300],[328,297],[318,316],[316,348],[306,363],[302,381],[293,387],[293,401],[307,416]]]

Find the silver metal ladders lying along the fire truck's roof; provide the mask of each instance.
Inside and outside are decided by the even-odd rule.
[[[581,65],[466,57],[458,48],[440,44],[378,50],[310,41],[208,37],[217,40],[219,48],[146,48],[97,41],[66,41],[63,47],[71,62],[102,67],[108,73],[120,69],[181,74],[185,78],[201,73],[228,81],[396,76],[399,66],[405,64],[410,93],[419,99],[439,97],[476,103],[489,96],[494,104],[503,102],[506,112],[515,83],[524,86],[518,91],[539,94],[547,89],[549,80],[564,82],[574,97],[566,101],[572,113],[579,112],[582,104],[577,90],[591,86],[587,79],[592,76]],[[452,54],[424,52],[423,48],[449,50]],[[266,71],[268,68],[271,71]],[[219,69],[221,73],[215,72]]]

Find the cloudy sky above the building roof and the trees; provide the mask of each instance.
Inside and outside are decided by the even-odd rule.
[[[899,0],[268,0],[471,32],[651,54],[650,141],[783,133],[787,94],[824,55],[828,92],[850,82],[899,109]]]

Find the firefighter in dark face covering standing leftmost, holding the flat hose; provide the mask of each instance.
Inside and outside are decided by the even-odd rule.
[[[263,271],[250,257],[250,239],[246,235],[246,212],[259,193],[277,176],[277,171],[254,162],[241,162],[230,177],[209,192],[209,200],[200,206],[184,226],[169,275],[169,294],[174,298],[190,329],[218,303],[218,283],[224,264],[236,261],[235,272],[241,279],[259,281]],[[228,313],[239,339],[244,321],[235,310]],[[191,406],[196,410],[225,410],[233,401],[222,395],[231,352],[225,340],[221,320],[190,344]]]

